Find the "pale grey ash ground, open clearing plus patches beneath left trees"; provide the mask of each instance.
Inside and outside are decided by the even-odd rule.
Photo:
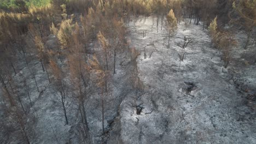
[[[137,63],[130,62],[127,51],[117,57],[117,74],[111,77],[110,91],[105,96],[104,135],[100,91],[92,92],[86,104],[91,142],[102,143],[103,137],[104,143],[256,143],[252,99],[256,92],[255,44],[243,50],[246,35],[235,33],[238,45],[232,49],[230,65],[225,69],[222,53],[211,47],[208,31],[202,25],[191,23],[185,27],[181,22],[168,46],[165,24],[161,30],[159,22],[157,32],[156,21],[152,25],[152,20],[148,17],[128,26],[130,47],[140,55]],[[183,49],[184,37],[190,43]],[[50,36],[47,45],[52,49],[56,38]],[[181,61],[179,56],[183,55]],[[48,83],[40,63],[32,61],[30,65],[39,92],[24,61],[16,63],[18,74],[13,79],[20,81],[16,87],[21,89],[19,95],[28,113],[25,124],[31,143],[81,143],[82,126],[74,99],[67,100],[69,124],[65,125],[58,93]],[[133,79],[137,76],[141,85],[135,88]],[[32,106],[22,84],[24,78]],[[138,106],[143,108],[139,115]],[[10,143],[20,142],[18,132],[10,129],[9,134]]]

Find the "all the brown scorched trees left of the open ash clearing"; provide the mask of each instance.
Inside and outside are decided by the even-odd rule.
[[[16,27],[9,25],[9,20],[1,21],[3,22],[2,25],[7,23],[6,26],[9,26],[6,29],[1,29],[1,38],[3,38],[1,39],[1,44],[5,45],[5,48],[1,49],[0,76],[3,85],[3,99],[9,103],[5,103],[3,107],[8,111],[15,110],[9,111],[8,115],[19,114],[17,118],[13,118],[13,121],[17,120],[20,122],[22,135],[24,135],[27,143],[30,143],[30,136],[27,134],[26,124],[24,123],[27,118],[27,109],[24,103],[22,103],[18,92],[19,89],[23,88],[14,88],[11,85],[11,83],[19,84],[19,81],[12,79],[13,77],[20,76],[15,64],[18,61],[26,62],[26,67],[29,69],[31,77],[24,77],[24,79],[27,79],[27,81],[30,79],[34,80],[37,91],[41,93],[42,88],[38,86],[37,82],[36,70],[38,69],[34,65],[34,61],[37,59],[42,71],[47,76],[49,85],[53,86],[57,92],[55,95],[63,109],[66,124],[70,124],[67,108],[70,105],[70,100],[75,99],[75,105],[77,105],[81,114],[80,117],[85,137],[87,138],[89,138],[89,127],[85,105],[88,103],[91,91],[95,90],[92,87],[92,83],[96,83],[96,86],[101,89],[102,129],[104,132],[103,95],[108,95],[109,77],[116,73],[115,65],[118,53],[126,51],[127,43],[125,41],[126,29],[124,22],[118,15],[103,13],[100,8],[90,8],[87,14],[80,17],[67,16],[65,9],[65,5],[62,5],[61,10],[58,12],[61,15],[53,17],[55,21],[51,23],[50,29],[46,27],[46,25],[50,26],[50,23],[44,21],[45,17],[43,15],[37,15],[36,22],[25,23],[25,31],[22,31],[20,21],[17,21]],[[60,19],[60,17],[62,21],[60,25],[55,27],[54,23],[57,24],[56,20]],[[46,45],[48,35],[50,34],[49,30],[55,35],[57,40],[57,45],[51,48]],[[15,32],[20,33],[16,34]],[[4,36],[6,37],[7,35],[9,35],[9,38],[4,39]],[[17,40],[19,40],[18,44]],[[92,44],[92,47],[90,44]],[[94,57],[90,57],[92,53],[95,54]],[[89,61],[90,58],[92,60]],[[97,61],[98,67],[95,67],[94,61],[97,59],[99,59]],[[95,70],[102,70],[104,76],[101,77],[101,73],[95,73],[95,76],[91,75],[91,72]],[[96,79],[91,80],[92,77],[96,77]],[[104,87],[102,87],[100,81],[104,81]],[[72,84],[70,85],[69,83]],[[27,94],[30,97],[30,93],[28,92]],[[32,107],[33,101],[31,98],[29,99]],[[8,118],[8,116],[5,118]]]

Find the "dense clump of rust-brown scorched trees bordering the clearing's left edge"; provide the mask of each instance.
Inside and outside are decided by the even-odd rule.
[[[72,87],[81,114],[85,137],[89,140],[88,116],[85,105],[88,103],[92,91],[97,90],[92,86],[97,86],[100,91],[102,131],[104,133],[104,101],[108,96],[109,79],[116,73],[117,55],[126,51],[127,43],[124,37],[126,29],[120,17],[106,12],[102,13],[99,8],[90,8],[88,14],[80,16],[78,22],[74,22],[71,16],[70,19],[61,22],[59,29],[54,24],[51,26],[51,32],[57,37],[60,46],[57,47],[56,51],[60,62],[58,64],[57,59],[55,62],[51,60],[50,67],[53,69],[55,77],[54,85],[57,87],[57,91],[61,93],[66,124],[68,124],[68,118],[64,101],[67,96],[65,88]],[[92,53],[94,55],[91,57]],[[63,66],[61,68],[60,65],[63,65],[61,63],[66,63],[70,75],[66,74],[65,76],[63,71],[67,69],[65,70]],[[59,71],[59,73],[54,71]],[[67,85],[66,81],[71,81],[72,86]]]

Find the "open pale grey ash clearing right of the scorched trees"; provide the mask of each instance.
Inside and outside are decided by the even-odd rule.
[[[222,53],[211,47],[202,25],[186,28],[181,22],[170,46],[167,31],[152,28],[152,17],[129,29],[131,44],[141,52],[137,62],[143,90],[122,101],[119,141],[109,143],[256,142],[255,101],[248,100],[255,93],[256,47],[243,50],[245,34],[236,34],[238,46],[225,69]],[[183,49],[184,37],[191,42]],[[141,115],[136,114],[138,105],[144,108]]]

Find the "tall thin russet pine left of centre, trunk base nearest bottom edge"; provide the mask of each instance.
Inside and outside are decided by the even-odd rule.
[[[88,103],[91,89],[90,89],[90,71],[89,66],[83,58],[83,45],[79,40],[79,26],[75,23],[75,31],[73,32],[73,46],[72,53],[69,55],[71,82],[74,88],[74,98],[78,103],[85,137],[89,138],[89,127],[87,122],[87,115],[85,105]],[[86,58],[85,58],[86,59]]]

